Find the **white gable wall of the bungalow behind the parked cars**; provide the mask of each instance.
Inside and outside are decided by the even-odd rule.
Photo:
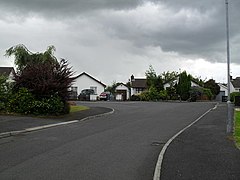
[[[78,77],[72,84],[72,87],[77,87],[78,95],[81,93],[83,89],[92,89],[96,88],[96,94],[99,96],[102,92],[104,92],[104,86],[92,78],[82,75]]]

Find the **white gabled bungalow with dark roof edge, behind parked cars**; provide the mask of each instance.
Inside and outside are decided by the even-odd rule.
[[[71,86],[71,91],[76,92],[77,95],[81,93],[83,89],[93,89],[95,94],[99,96],[106,87],[101,81],[97,80],[96,78],[90,76],[86,72],[79,74],[78,76],[74,77],[74,82]]]

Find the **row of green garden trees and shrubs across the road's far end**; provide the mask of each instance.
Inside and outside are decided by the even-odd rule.
[[[150,66],[145,75],[148,88],[138,96],[138,99],[143,101],[212,100],[220,92],[220,87],[215,80],[210,79],[204,82],[200,78],[194,78],[186,71],[181,73],[175,71],[163,72],[157,75],[153,67]],[[198,84],[198,86],[192,87],[192,82]],[[168,87],[164,88],[164,85],[167,83]],[[134,99],[136,99],[135,96]]]

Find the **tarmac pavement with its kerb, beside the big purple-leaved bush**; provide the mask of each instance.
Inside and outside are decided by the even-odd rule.
[[[0,115],[0,138],[64,124],[76,123],[111,112],[113,112],[113,110],[109,108],[91,107],[88,110],[52,117]]]

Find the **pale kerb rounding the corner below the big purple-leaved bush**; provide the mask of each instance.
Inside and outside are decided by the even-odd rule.
[[[10,136],[15,136],[15,135],[22,134],[22,133],[39,131],[39,130],[47,129],[47,128],[51,128],[51,127],[62,126],[62,125],[67,125],[67,124],[73,124],[73,123],[78,123],[78,122],[83,122],[83,121],[86,121],[86,120],[89,120],[89,119],[93,119],[93,118],[97,118],[97,117],[102,117],[102,116],[107,116],[107,115],[113,114],[115,110],[113,108],[109,108],[109,109],[111,109],[110,112],[97,114],[97,115],[93,115],[93,116],[88,116],[88,117],[85,117],[85,118],[80,119],[80,120],[72,120],[72,121],[48,124],[48,125],[37,126],[37,127],[32,127],[32,128],[26,128],[26,129],[19,130],[19,131],[9,131],[9,132],[0,133],[0,139],[7,138],[7,137],[10,137]]]

